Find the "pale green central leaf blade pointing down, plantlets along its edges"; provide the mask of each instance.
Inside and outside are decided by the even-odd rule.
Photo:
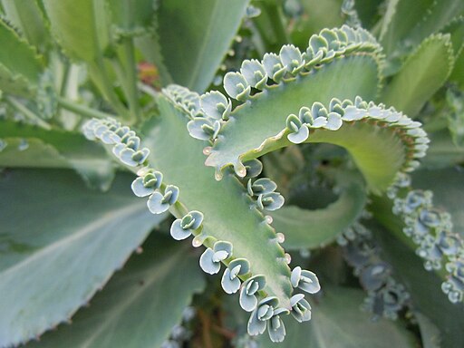
[[[161,117],[147,122],[140,138],[151,150],[150,165],[163,173],[166,183],[179,187],[179,203],[204,214],[201,239],[195,241],[210,248],[215,239],[230,242],[232,258],[246,258],[252,275],[266,275],[263,290],[277,296],[282,306],[289,304],[290,269],[275,231],[256,208],[250,209],[252,200],[244,195],[246,189],[235,176],[227,175],[221,182],[214,179],[214,169],[204,165],[202,152],[208,143],[189,136],[188,117],[165,97],[158,102]],[[173,134],[176,146],[172,146]],[[250,230],[255,232],[250,234]]]

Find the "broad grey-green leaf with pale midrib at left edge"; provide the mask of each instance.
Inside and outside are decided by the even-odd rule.
[[[160,223],[130,186],[119,176],[102,194],[69,170],[3,173],[1,346],[68,320]]]

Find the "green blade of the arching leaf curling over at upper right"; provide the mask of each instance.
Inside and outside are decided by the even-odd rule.
[[[237,160],[251,160],[252,158],[266,153],[271,150],[270,148],[273,147],[274,142],[281,140],[281,142],[284,143],[284,139],[278,138],[277,135],[282,134],[281,131],[285,127],[287,116],[292,113],[297,113],[303,106],[311,107],[314,102],[323,102],[325,105],[330,102],[334,96],[342,100],[344,98],[353,99],[356,94],[368,100],[374,98],[378,83],[377,69],[377,63],[368,55],[349,56],[336,60],[331,64],[323,65],[321,69],[318,69],[316,72],[307,76],[302,76],[301,79],[297,79],[295,82],[285,83],[281,88],[269,89],[266,93],[262,93],[262,95],[256,94],[253,100],[232,111],[231,118],[234,118],[234,120],[232,120],[232,122],[227,121],[222,127],[218,141],[213,146],[206,161],[207,165],[216,168],[224,168],[227,165],[237,163]],[[333,82],[335,81],[333,80],[333,76],[337,76],[337,82]],[[362,76],[362,79],[355,76]],[[343,82],[341,82],[340,79],[342,79]],[[247,113],[251,113],[252,117],[247,117]],[[315,115],[314,112],[313,114]],[[354,130],[353,128],[348,129],[343,127],[339,131],[333,132],[314,131],[314,134],[309,136],[307,141],[321,142],[324,140],[317,139],[319,135],[321,135],[321,137],[332,137],[332,133],[333,135],[337,134],[344,137],[344,135],[342,135],[344,131],[352,133]],[[360,134],[346,134],[346,136],[347,139],[351,139],[349,140],[350,142],[360,137],[368,140],[372,137],[372,131],[368,132],[370,132],[371,135],[365,134],[365,136],[361,136]],[[249,134],[249,136],[244,136],[245,134]],[[317,136],[314,137],[314,135]],[[398,159],[397,156],[402,156],[402,150],[395,149],[396,146],[392,143],[383,148],[384,151],[382,152],[384,153],[379,156],[385,159],[385,161],[382,162],[382,166],[385,165],[385,168],[375,170],[375,173],[373,173],[368,169],[368,167],[372,168],[372,164],[367,165],[367,162],[365,162],[365,164],[361,163],[368,161],[370,157],[368,152],[372,154],[372,149],[379,147],[381,142],[378,139],[378,135],[379,134],[376,133],[375,140],[372,139],[372,145],[366,145],[365,148],[362,147],[362,149],[357,146],[356,150],[353,149],[353,151],[358,153],[354,154],[352,152],[352,154],[354,158],[359,156],[356,162],[358,165],[362,166],[363,173],[368,178],[370,184],[372,184],[370,186],[386,188],[391,183],[391,179],[397,171],[397,169],[393,169],[396,167],[395,165],[386,165],[386,159],[390,158],[388,161],[393,160],[391,157],[393,152],[396,153],[394,157]],[[278,138],[278,140],[276,138]],[[390,142],[391,137],[389,136],[388,138]],[[268,140],[267,146],[264,142],[265,140]],[[396,142],[396,140],[394,142]],[[338,141],[337,145],[340,145]],[[276,148],[273,149],[275,150]],[[366,151],[364,152],[364,150]],[[393,160],[393,162],[396,161],[397,160]],[[375,160],[375,162],[373,167],[378,168],[380,164],[377,160]],[[371,171],[371,173],[367,173],[365,171],[366,169]],[[387,176],[389,179],[387,179]],[[373,181],[376,182],[374,183]]]

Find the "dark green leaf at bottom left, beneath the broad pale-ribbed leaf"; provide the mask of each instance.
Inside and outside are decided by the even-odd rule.
[[[152,235],[142,247],[72,325],[58,326],[30,346],[160,347],[205,281],[185,245]]]

